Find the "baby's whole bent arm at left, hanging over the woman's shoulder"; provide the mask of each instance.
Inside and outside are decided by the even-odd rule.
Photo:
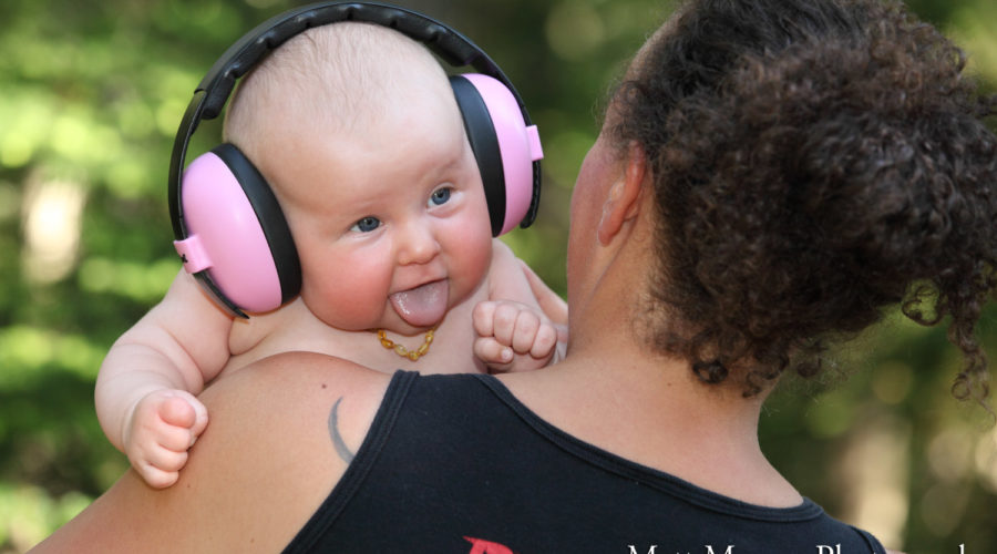
[[[195,398],[229,358],[232,318],[181,271],[163,300],[111,347],[97,375],[97,419],[152,486],[172,485],[207,425]]]

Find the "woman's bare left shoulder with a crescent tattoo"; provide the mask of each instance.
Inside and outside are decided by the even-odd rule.
[[[308,352],[225,376],[201,396],[208,428],[176,484],[130,471],[39,552],[279,551],[342,476],[337,441],[356,452],[390,380]]]

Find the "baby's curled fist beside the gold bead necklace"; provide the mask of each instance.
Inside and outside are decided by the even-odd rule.
[[[528,371],[551,361],[557,329],[543,314],[511,300],[489,300],[472,314],[474,353],[495,371]]]

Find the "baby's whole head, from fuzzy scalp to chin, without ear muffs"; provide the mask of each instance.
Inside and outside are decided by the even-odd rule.
[[[487,207],[446,75],[418,42],[343,22],[308,30],[246,76],[226,141],[274,189],[326,324],[413,334],[483,279]]]

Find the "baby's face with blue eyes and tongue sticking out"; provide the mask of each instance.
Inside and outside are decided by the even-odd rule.
[[[489,270],[487,207],[456,104],[439,90],[421,96],[346,132],[304,125],[267,154],[280,160],[268,177],[302,299],[332,327],[423,331]]]

